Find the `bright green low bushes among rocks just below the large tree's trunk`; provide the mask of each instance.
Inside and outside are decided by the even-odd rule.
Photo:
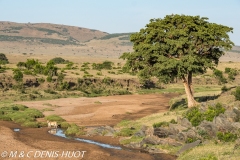
[[[198,107],[187,110],[184,117],[187,118],[193,126],[198,126],[203,120],[212,121],[215,116],[225,112],[222,104],[217,103],[215,106],[209,106],[206,111],[200,111]]]

